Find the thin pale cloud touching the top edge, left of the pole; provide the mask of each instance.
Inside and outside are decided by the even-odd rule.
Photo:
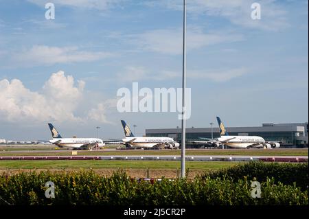
[[[37,5],[45,5],[45,1],[41,0],[28,0],[31,3]],[[76,8],[89,8],[89,9],[98,9],[98,10],[107,10],[108,8],[117,5],[124,0],[53,0],[52,3],[62,6],[76,7]]]

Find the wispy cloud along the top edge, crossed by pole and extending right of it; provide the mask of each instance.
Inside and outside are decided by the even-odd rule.
[[[282,30],[288,27],[287,12],[279,5],[280,1],[260,0],[261,20],[251,19],[251,4],[255,1],[248,0],[192,0],[187,1],[187,12],[193,15],[207,14],[209,16],[222,16],[231,23],[242,27],[257,28],[260,30]],[[155,0],[146,3],[152,7],[158,5],[170,10],[183,10],[182,1]]]

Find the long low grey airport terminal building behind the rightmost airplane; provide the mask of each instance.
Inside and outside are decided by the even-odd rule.
[[[227,127],[229,135],[260,136],[265,141],[284,141],[286,146],[308,146],[308,122],[275,124],[267,123],[257,127]],[[186,128],[187,141],[201,141],[202,138],[220,137],[219,128]],[[147,137],[172,137],[181,142],[181,128],[146,129]],[[187,143],[188,144],[188,143]],[[188,144],[188,148],[194,148]]]

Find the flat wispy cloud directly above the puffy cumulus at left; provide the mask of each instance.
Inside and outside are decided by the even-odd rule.
[[[80,51],[78,47],[49,47],[34,45],[12,54],[12,59],[25,65],[54,65],[57,63],[91,62],[111,56],[105,52]]]

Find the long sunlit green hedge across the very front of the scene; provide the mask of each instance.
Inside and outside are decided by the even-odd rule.
[[[45,198],[45,183],[55,184],[55,198]],[[94,172],[20,173],[0,176],[1,205],[308,205],[308,191],[296,185],[262,182],[262,197],[251,198],[248,179],[163,178],[140,183],[123,172],[104,177]],[[5,200],[5,202],[3,201]]]

